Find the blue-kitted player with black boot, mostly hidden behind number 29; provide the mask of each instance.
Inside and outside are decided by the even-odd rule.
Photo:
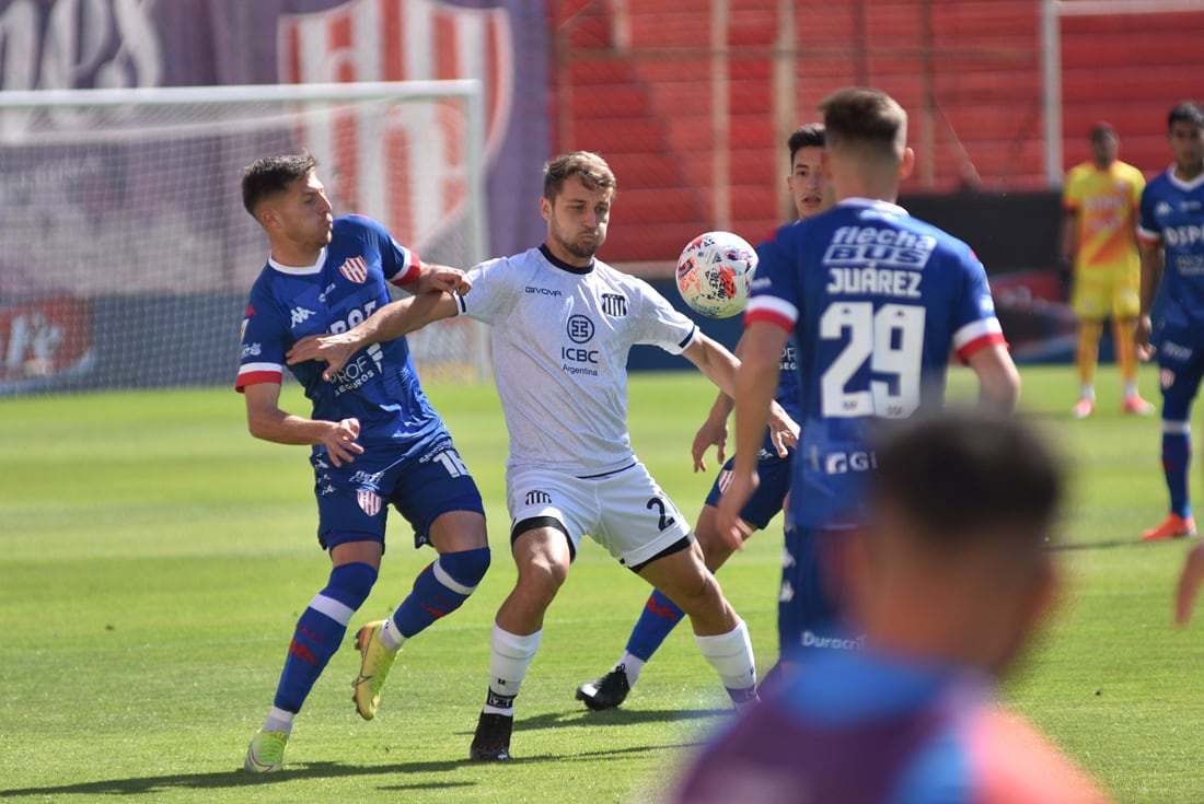
[[[831,193],[820,171],[820,154],[824,153],[824,125],[808,123],[799,126],[791,132],[786,141],[786,148],[790,156],[790,175],[786,177],[786,184],[790,188],[795,213],[799,220],[803,220],[831,206]],[[736,347],[736,354],[737,356],[740,354],[739,344]],[[781,350],[781,374],[775,398],[791,418],[801,420],[802,416],[797,412],[797,377],[795,344],[793,341],[790,341]],[[718,449],[720,462],[724,461],[727,443],[727,416],[731,413],[732,397],[720,391],[707,420],[694,438],[695,472],[707,469],[706,454],[712,445]],[[756,493],[740,512],[740,519],[748,526],[749,533],[763,530],[769,520],[781,510],[786,492],[790,491],[790,463],[793,461],[793,456],[795,450],[774,444],[766,434],[761,451],[757,454],[760,484]],[[712,572],[719,569],[733,552],[715,528],[715,506],[719,504],[719,497],[727,485],[727,478],[731,477],[733,461],[734,457],[728,459],[719,471],[695,525],[698,545],[702,548],[707,567]],[[627,646],[622,656],[606,675],[579,686],[577,699],[585,702],[585,705],[595,711],[621,704],[627,698],[631,687],[636,685],[644,662],[653,657],[653,654],[681,621],[683,616],[684,613],[673,601],[660,590],[654,590],[644,603],[636,627],[632,628],[631,635],[627,638]]]

